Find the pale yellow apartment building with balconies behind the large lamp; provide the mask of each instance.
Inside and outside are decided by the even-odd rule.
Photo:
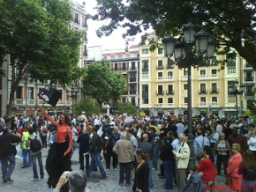
[[[154,38],[151,34],[149,38]],[[169,65],[162,48],[149,51],[148,43],[139,47],[139,108],[151,114],[184,114],[187,110],[187,70]],[[192,69],[192,115],[236,115],[236,99],[228,87],[236,79],[240,82],[238,59],[224,70],[212,59],[210,66]],[[241,101],[238,102],[241,107]]]

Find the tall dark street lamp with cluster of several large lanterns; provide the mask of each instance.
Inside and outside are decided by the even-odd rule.
[[[190,166],[195,165],[192,135],[192,82],[191,69],[207,67],[215,53],[215,41],[203,29],[196,33],[198,26],[188,23],[183,26],[184,41],[176,40],[169,33],[162,40],[164,54],[168,63],[176,64],[179,70],[187,69],[188,85],[188,144],[191,149]],[[195,46],[195,47],[194,47]],[[174,55],[174,60],[171,57]]]

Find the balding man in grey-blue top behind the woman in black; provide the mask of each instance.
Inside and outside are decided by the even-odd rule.
[[[148,153],[148,159],[147,159],[147,165],[149,166],[149,175],[148,175],[148,187],[152,188],[153,181],[152,181],[152,168],[153,168],[153,145],[149,143],[147,133],[142,135],[143,141],[139,144],[139,149],[147,151]]]

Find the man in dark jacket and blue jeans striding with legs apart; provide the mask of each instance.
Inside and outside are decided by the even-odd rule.
[[[87,170],[87,177],[89,177],[90,174],[92,173],[94,165],[96,163],[96,166],[99,167],[102,173],[102,175],[99,176],[99,178],[105,179],[107,178],[107,175],[101,163],[102,140],[101,140],[101,137],[97,135],[97,130],[98,130],[97,128],[93,129],[93,134],[94,134],[93,141],[89,151],[87,151],[86,153],[87,155],[90,153],[92,154],[91,164]]]

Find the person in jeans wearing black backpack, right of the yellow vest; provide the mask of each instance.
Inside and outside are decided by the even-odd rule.
[[[28,129],[29,138],[27,141],[27,146],[30,147],[30,142],[34,139],[37,139],[41,143],[41,138],[34,135],[34,129]],[[41,161],[41,149],[39,151],[31,151],[31,157],[32,157],[32,166],[33,166],[33,174],[34,177],[31,179],[31,181],[38,181],[38,174],[37,174],[37,166],[36,166],[36,159],[38,160],[39,170],[40,170],[40,176],[41,179],[43,179],[44,173],[43,173],[43,166]]]

